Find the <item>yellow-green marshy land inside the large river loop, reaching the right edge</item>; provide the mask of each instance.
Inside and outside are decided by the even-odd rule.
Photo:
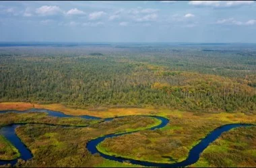
[[[154,163],[184,161],[189,151],[209,132],[225,124],[256,124],[255,116],[236,114],[168,114],[170,122],[160,130],[143,130],[124,136],[107,138],[97,148],[106,155]],[[171,158],[171,159],[170,159]]]

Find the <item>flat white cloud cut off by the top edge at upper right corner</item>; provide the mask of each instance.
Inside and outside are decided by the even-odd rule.
[[[251,5],[254,1],[189,1],[190,5],[201,7],[235,7],[241,5]]]

